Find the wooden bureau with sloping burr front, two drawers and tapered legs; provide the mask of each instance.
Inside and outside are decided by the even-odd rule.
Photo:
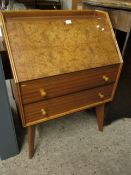
[[[113,99],[122,68],[108,14],[12,11],[1,17],[29,157],[41,122],[95,107],[102,131],[104,105]]]

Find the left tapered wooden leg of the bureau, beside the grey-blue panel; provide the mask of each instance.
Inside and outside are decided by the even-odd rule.
[[[29,158],[34,155],[35,126],[28,127]]]

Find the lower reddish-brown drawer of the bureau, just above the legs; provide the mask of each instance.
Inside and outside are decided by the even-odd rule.
[[[80,108],[88,108],[88,106],[96,105],[111,98],[113,84],[69,94],[62,97],[43,100],[37,103],[24,105],[25,121],[37,122],[40,119],[48,117],[62,116],[64,113],[71,113],[81,110]]]

